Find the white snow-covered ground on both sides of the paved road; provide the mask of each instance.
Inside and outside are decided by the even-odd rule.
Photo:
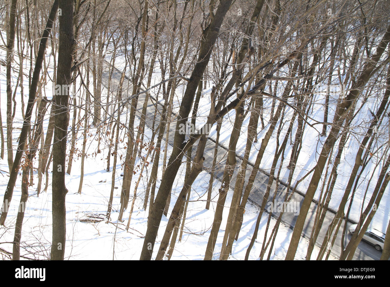
[[[5,59],[5,51],[0,50],[1,59]],[[18,70],[18,59],[16,58],[15,64],[15,72],[13,73],[13,85],[16,83],[16,71]],[[52,57],[46,56],[46,61],[50,61],[53,64]],[[118,64],[118,68],[120,69],[120,60],[116,61]],[[25,66],[26,67],[26,66]],[[49,70],[51,75],[53,74],[53,70]],[[154,81],[157,83],[160,77],[160,71],[156,69],[156,77],[154,77]],[[153,85],[153,81],[152,81]],[[5,80],[5,67],[1,66],[0,70],[0,88],[1,88],[1,112],[2,112],[2,123],[5,127],[5,115],[6,115],[6,80]],[[13,89],[15,87],[13,86]],[[177,89],[177,98],[175,98],[174,107],[177,109],[180,98],[182,96],[183,86]],[[199,120],[197,120],[197,125],[202,124],[202,116],[206,120],[206,116],[209,112],[208,103],[209,96],[207,93],[210,92],[211,87],[207,86],[207,89],[204,91],[204,96],[201,98],[200,102],[200,110],[199,110]],[[28,81],[24,82],[24,102],[27,103],[28,98]],[[46,96],[48,99],[51,98],[52,95],[52,84],[48,82],[45,87]],[[103,94],[106,93],[106,90],[103,90]],[[20,133],[20,128],[22,125],[22,116],[21,116],[21,103],[20,103],[20,89],[16,89],[16,114],[14,118],[14,130],[13,130],[13,146],[14,150],[17,147],[17,139]],[[104,98],[104,97],[103,97]],[[34,110],[35,111],[35,110]],[[71,111],[72,114],[73,111]],[[126,112],[126,109],[125,111]],[[83,112],[82,112],[83,115]],[[35,113],[33,114],[34,119]],[[321,109],[318,108],[315,112],[315,116],[321,118]],[[121,117],[125,118],[125,114]],[[46,135],[46,130],[48,127],[48,113],[45,116],[44,120],[44,133]],[[220,141],[223,144],[227,145],[227,141],[229,140],[230,131],[232,123],[234,122],[234,111],[230,112],[225,116],[225,120],[223,122],[222,133],[220,137]],[[239,137],[239,142],[237,146],[238,153],[243,153],[245,149],[246,143],[246,125],[248,124],[248,118],[245,119],[245,123],[243,125],[243,129],[241,130],[241,135]],[[69,130],[70,130],[69,124]],[[138,125],[135,123],[135,126]],[[305,172],[309,171],[313,165],[315,164],[316,159],[316,150],[319,150],[321,146],[312,144],[312,139],[316,139],[318,137],[318,133],[315,130],[311,130],[307,127],[307,131],[305,132],[305,138],[303,140],[303,148],[298,159],[298,166],[300,166],[300,170],[302,173],[296,172],[293,178],[294,181],[298,180]],[[255,157],[257,155],[257,150],[259,149],[259,145],[261,143],[262,136],[266,132],[267,127],[260,131],[258,134],[258,142],[254,144],[252,148],[252,155],[250,160],[254,162]],[[123,129],[120,134],[120,138],[124,138]],[[138,186],[137,199],[135,201],[135,208],[133,214],[131,214],[131,223],[130,229],[126,232],[125,227],[128,221],[129,208],[124,212],[124,222],[117,221],[118,218],[118,210],[120,207],[120,192],[121,192],[121,183],[122,177],[120,176],[122,173],[121,160],[119,158],[122,155],[122,160],[125,157],[126,149],[125,143],[127,139],[124,139],[123,142],[120,143],[118,150],[118,164],[115,176],[115,187],[114,189],[114,198],[113,198],[113,212],[111,214],[111,221],[106,222],[105,220],[92,223],[92,222],[83,222],[83,219],[89,219],[89,216],[92,217],[104,217],[107,211],[108,199],[110,196],[111,189],[111,172],[106,171],[106,157],[108,153],[108,138],[105,139],[103,137],[100,143],[101,153],[97,153],[97,134],[95,128],[89,129],[89,136],[87,139],[87,158],[85,159],[85,170],[84,170],[84,180],[83,180],[83,188],[82,194],[78,194],[78,185],[80,182],[80,158],[77,156],[78,152],[76,152],[71,175],[66,175],[66,186],[68,189],[68,194],[66,196],[66,222],[67,222],[67,242],[65,248],[65,257],[66,259],[76,260],[76,259],[90,259],[90,260],[121,260],[121,259],[138,259],[140,256],[140,251],[143,244],[143,236],[146,232],[147,226],[147,216],[148,209],[144,210],[142,208],[143,198],[145,193],[145,188],[147,185],[147,178],[150,174],[150,170],[144,171],[143,177],[140,181],[140,185]],[[4,129],[4,135],[6,134],[6,129]],[[68,137],[68,148],[70,146],[70,136]],[[215,136],[215,127],[211,131],[211,137]],[[151,137],[151,131],[145,131],[146,142]],[[323,139],[322,139],[323,140]],[[77,135],[77,143],[76,148],[81,150],[82,147],[82,131],[78,132]],[[273,158],[275,148],[275,138],[273,137],[269,143],[269,146],[264,154],[264,159],[262,160],[261,168],[267,170],[271,166],[271,159]],[[168,156],[171,147],[168,146]],[[287,149],[289,150],[289,149]],[[353,151],[356,150],[356,144],[351,143],[350,146],[347,147],[345,155],[343,157],[344,161],[340,164],[339,169],[340,172],[344,173],[344,175],[348,175],[350,170],[350,164],[348,159],[353,157]],[[14,152],[15,153],[15,152]],[[289,154],[285,155],[286,158]],[[112,163],[112,160],[111,160]],[[139,159],[136,161],[136,166],[139,164]],[[288,164],[288,161],[285,161],[285,164]],[[34,161],[34,167],[37,166],[37,159]],[[284,166],[285,168],[285,166]],[[5,187],[8,182],[8,164],[7,164],[7,156],[5,152],[4,159],[0,160],[0,196],[4,195]],[[34,169],[34,185],[29,188],[29,198],[26,206],[25,219],[23,221],[23,232],[21,238],[21,254],[30,258],[39,258],[39,259],[47,259],[49,257],[50,246],[51,246],[51,167],[49,169],[49,186],[47,188],[46,193],[41,193],[39,197],[37,196],[35,189],[37,185],[37,171]],[[112,170],[112,166],[110,167]],[[160,184],[161,180],[161,170],[162,170],[162,162],[160,162],[159,173],[158,173],[158,182],[157,188]],[[287,177],[287,169],[286,173],[281,173],[283,178]],[[179,173],[176,176],[175,184],[172,187],[172,198],[170,203],[170,210],[174,203],[176,202],[176,196],[179,194],[181,187],[183,185],[185,173],[185,163],[182,164],[179,169]],[[133,176],[131,183],[131,191],[132,194],[133,187],[135,186],[139,176],[139,171]],[[184,228],[183,239],[181,242],[177,242],[175,246],[175,251],[173,253],[172,259],[190,259],[190,260],[201,260],[204,257],[204,253],[206,250],[207,240],[209,237],[209,232],[211,230],[211,225],[214,217],[215,210],[215,202],[213,201],[211,204],[210,210],[205,209],[206,205],[206,194],[207,187],[209,182],[209,174],[206,171],[203,171],[198,176],[197,180],[195,180],[192,185],[191,190],[191,198],[190,203],[188,205],[187,210],[187,218],[186,225]],[[310,178],[310,177],[309,177]],[[337,182],[337,189],[333,193],[331,207],[333,209],[337,209],[337,204],[340,200],[340,196],[343,193],[343,187],[346,182],[340,180],[342,176],[339,177]],[[375,180],[373,180],[375,182]],[[44,180],[43,180],[44,183]],[[298,190],[305,193],[305,188],[308,185],[308,180],[304,180],[301,185],[298,186]],[[214,181],[213,184],[213,194],[212,198],[216,200],[218,197],[218,188],[220,187],[220,182],[218,180]],[[44,188],[44,185],[43,185]],[[367,196],[370,196],[369,189]],[[351,213],[351,217],[356,216],[357,212],[360,210],[360,205],[363,201],[363,194],[365,189],[359,189],[358,194],[355,196],[355,201],[353,204],[353,210]],[[5,250],[12,251],[12,244],[9,242],[13,241],[14,236],[14,225],[16,221],[17,207],[19,205],[21,195],[21,176],[18,177],[16,182],[16,187],[14,189],[14,195],[11,202],[11,207],[9,214],[6,220],[6,227],[0,227],[0,248],[4,248]],[[131,195],[132,196],[132,195]],[[218,234],[218,239],[215,248],[215,258],[218,258],[221,242],[224,234],[224,228],[226,225],[227,214],[229,213],[229,204],[231,201],[232,191],[230,190],[227,199],[226,206],[223,212],[223,221],[221,224],[221,230]],[[316,194],[316,196],[318,196]],[[132,200],[132,197],[130,198]],[[367,203],[367,200],[366,200]],[[383,205],[382,205],[383,204]],[[130,206],[130,205],[129,205]],[[389,216],[389,207],[390,207],[390,197],[388,194],[388,190],[386,190],[385,195],[383,196],[381,206],[378,208],[378,212],[376,217],[374,217],[374,223],[376,228],[380,228],[379,230],[385,231],[388,216]],[[170,214],[170,210],[168,214]],[[246,211],[244,214],[243,226],[240,232],[238,242],[235,242],[233,245],[232,256],[230,259],[243,259],[245,257],[246,249],[249,245],[250,239],[254,232],[254,226],[257,219],[257,215],[259,213],[259,209],[254,205],[247,204]],[[261,221],[261,225],[259,227],[259,233],[257,236],[257,241],[252,248],[252,252],[250,253],[250,259],[256,259],[259,257],[262,240],[264,237],[264,231],[266,228],[266,222],[268,214],[264,213]],[[98,219],[98,218],[97,218]],[[270,230],[275,225],[276,220],[274,218],[271,219]],[[158,250],[159,240],[161,240],[163,232],[165,231],[165,225],[167,224],[167,218],[163,216],[158,237],[157,244],[154,250]],[[285,253],[287,252],[287,248],[289,245],[290,237],[292,234],[292,230],[285,226],[281,225],[278,231],[278,235],[275,241],[275,245],[273,250],[271,251],[272,256],[271,259],[283,259]],[[269,236],[269,234],[268,234]],[[7,243],[8,242],[8,243]],[[300,242],[300,246],[298,247],[298,251],[296,253],[296,259],[304,259],[307,250],[307,240],[302,239]],[[317,256],[318,248],[315,247],[314,252],[312,253],[312,258],[315,259]],[[266,255],[268,254],[268,250]],[[154,253],[155,255],[155,253]],[[335,259],[331,257],[331,259]]]

